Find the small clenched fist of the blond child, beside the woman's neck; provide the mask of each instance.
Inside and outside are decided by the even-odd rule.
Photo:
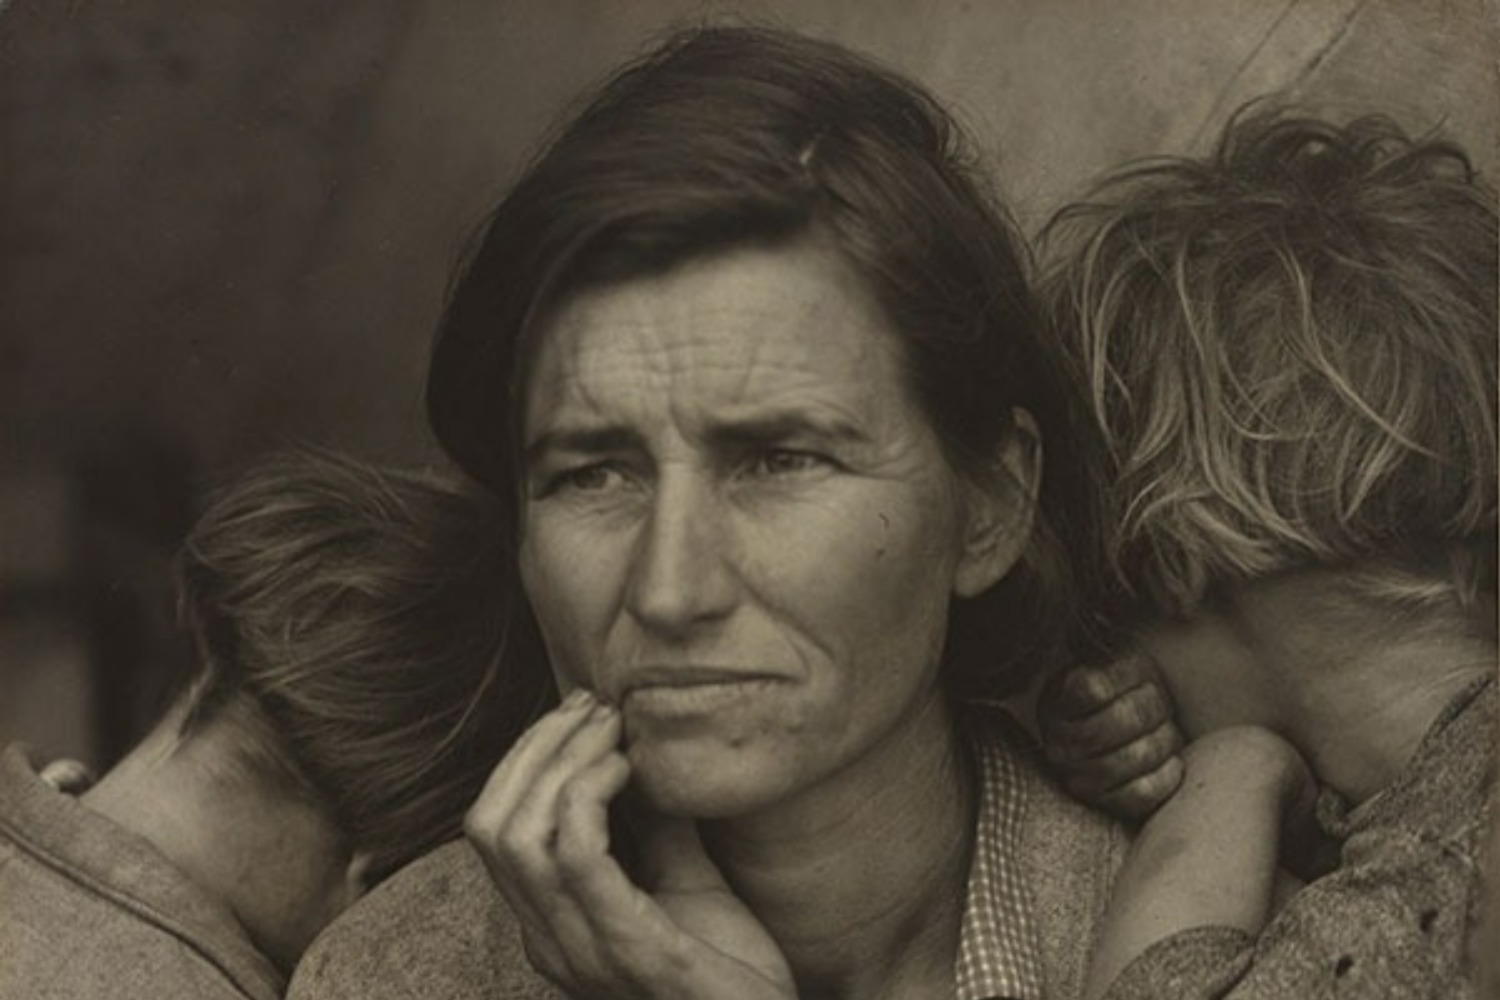
[[[1062,670],[1036,706],[1047,760],[1064,787],[1124,820],[1150,816],[1182,781],[1174,715],[1144,654]]]

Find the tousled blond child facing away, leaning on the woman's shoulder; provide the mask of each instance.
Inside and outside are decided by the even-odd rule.
[[[1090,996],[1466,996],[1496,751],[1494,193],[1384,118],[1252,112],[1047,240],[1112,471],[1118,655],[1064,673],[1042,729],[1076,793],[1144,817]],[[1290,900],[1278,862],[1310,879]]]

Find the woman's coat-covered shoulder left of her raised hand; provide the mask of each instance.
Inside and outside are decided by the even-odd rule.
[[[290,1000],[560,1000],[531,970],[520,931],[478,855],[453,841],[336,919],[303,957]]]

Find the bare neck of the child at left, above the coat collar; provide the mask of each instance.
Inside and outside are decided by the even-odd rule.
[[[358,886],[327,811],[237,771],[232,742],[216,727],[178,739],[170,718],[81,801],[148,840],[290,973]]]

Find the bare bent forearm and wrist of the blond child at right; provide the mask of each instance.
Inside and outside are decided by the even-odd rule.
[[[1300,754],[1266,729],[1209,733],[1182,757],[1182,786],[1142,826],[1116,879],[1089,1000],[1148,948],[1182,931],[1257,934],[1270,912],[1284,820],[1316,798]]]

